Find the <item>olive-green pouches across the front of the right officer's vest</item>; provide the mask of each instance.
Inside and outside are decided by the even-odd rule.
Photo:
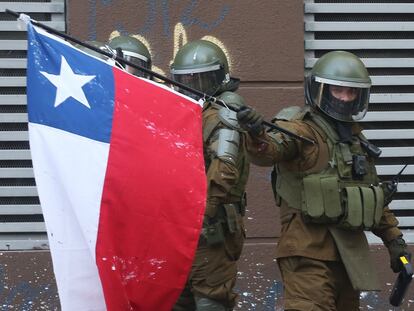
[[[301,211],[307,222],[372,230],[379,224],[383,210],[381,186],[346,184],[336,176],[326,175],[303,179]]]

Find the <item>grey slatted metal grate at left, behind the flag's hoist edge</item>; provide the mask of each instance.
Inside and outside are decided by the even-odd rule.
[[[45,249],[27,133],[27,35],[5,9],[65,31],[65,1],[0,0],[0,250]]]

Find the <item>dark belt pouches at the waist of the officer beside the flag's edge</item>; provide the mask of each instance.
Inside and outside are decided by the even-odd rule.
[[[245,196],[243,196],[245,197]],[[204,224],[200,234],[199,245],[213,246],[225,241],[226,235],[233,235],[241,230],[239,218],[246,213],[246,203],[240,202],[220,204],[217,214],[209,224]]]

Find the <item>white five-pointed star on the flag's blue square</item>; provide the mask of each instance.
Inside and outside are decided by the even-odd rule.
[[[82,87],[96,76],[78,75],[74,73],[63,55],[59,75],[53,75],[44,71],[40,71],[40,73],[44,75],[50,83],[56,86],[55,107],[59,106],[69,97],[73,97],[82,105],[89,109],[91,108]]]

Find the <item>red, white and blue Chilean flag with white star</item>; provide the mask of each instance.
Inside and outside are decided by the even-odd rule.
[[[29,137],[63,310],[171,310],[206,201],[200,103],[28,24]]]

